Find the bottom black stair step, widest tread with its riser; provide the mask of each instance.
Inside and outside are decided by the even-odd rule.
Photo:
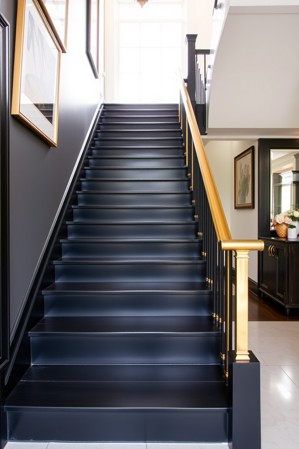
[[[32,366],[5,411],[10,440],[226,442],[226,396],[219,365]]]

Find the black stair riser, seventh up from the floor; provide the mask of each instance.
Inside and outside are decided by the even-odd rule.
[[[74,221],[192,221],[194,207],[76,207]]]

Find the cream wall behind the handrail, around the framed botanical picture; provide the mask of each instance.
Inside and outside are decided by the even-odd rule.
[[[255,147],[255,208],[234,208],[234,158]],[[226,221],[233,239],[256,239],[257,229],[257,141],[209,141],[205,145],[208,161],[218,189]],[[248,277],[257,282],[257,251],[249,253]],[[234,261],[233,261],[234,263]]]

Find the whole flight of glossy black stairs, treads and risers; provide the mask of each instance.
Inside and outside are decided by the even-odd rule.
[[[6,400],[9,440],[224,442],[221,331],[173,105],[106,105]]]

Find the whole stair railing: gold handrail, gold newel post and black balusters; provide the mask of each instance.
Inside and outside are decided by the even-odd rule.
[[[220,357],[228,377],[228,352],[233,351],[232,322],[235,321],[235,361],[249,361],[248,353],[248,252],[262,251],[262,240],[233,240],[217,192],[208,158],[197,126],[192,101],[182,71],[179,119],[186,148],[186,166],[191,178],[198,236],[203,241],[202,257],[207,261],[206,284],[213,290],[214,322],[222,333]],[[189,76],[188,76],[189,85]],[[233,311],[232,251],[235,255],[235,300]]]

